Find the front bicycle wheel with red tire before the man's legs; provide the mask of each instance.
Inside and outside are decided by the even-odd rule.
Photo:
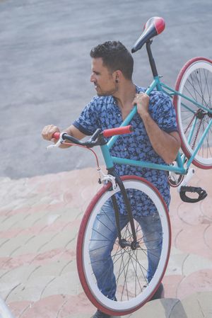
[[[126,246],[121,247],[119,239],[116,236],[111,243],[110,231],[112,232],[112,230],[110,226],[114,227],[114,222],[109,220],[110,216],[104,210],[104,207],[105,203],[112,198],[112,195],[119,195],[120,190],[119,187],[115,191],[112,190],[111,183],[108,183],[95,195],[86,210],[79,229],[76,254],[78,275],[83,289],[89,300],[93,302],[93,305],[102,312],[111,315],[129,314],[138,310],[139,307],[151,299],[165,274],[170,255],[170,219],[167,206],[160,193],[151,183],[137,176],[122,176],[122,181],[127,193],[137,191],[141,195],[146,195],[146,198],[151,200],[153,205],[155,205],[155,217],[160,222],[162,239],[160,239],[161,249],[158,255],[155,247],[153,249],[150,247],[151,245],[155,245],[153,241],[155,232],[157,231],[151,225],[148,228],[148,233],[144,235],[141,229],[143,228],[141,222],[134,217],[137,236],[136,248],[132,248],[133,237],[128,221],[122,228],[122,239],[126,242]],[[101,219],[100,227],[101,229],[105,227],[109,233],[108,235],[95,226],[95,220],[99,217],[100,212],[105,214],[106,220],[104,223],[104,217]],[[93,239],[93,231],[97,232],[95,239]],[[95,243],[95,246],[98,246],[92,251],[98,253],[96,261],[91,260],[90,256],[90,245],[93,243]],[[111,273],[109,276],[107,272],[112,271],[112,277],[115,281],[115,295],[113,299],[111,299],[109,294],[107,295],[107,293],[102,292],[103,288],[100,289],[98,287],[98,282],[93,272],[94,265],[99,264],[98,266],[100,266],[101,263],[104,264],[104,262],[108,261],[107,256],[105,254],[101,256],[100,253],[101,249],[105,249],[105,246],[108,244],[110,246],[112,244],[110,256],[108,256],[112,266],[105,268],[105,271],[101,275],[105,280],[105,284],[107,283],[108,285],[108,281],[110,281],[108,277],[111,277]],[[157,263],[151,280],[147,278],[149,267],[148,256],[154,257]],[[94,264],[94,262],[98,263]]]

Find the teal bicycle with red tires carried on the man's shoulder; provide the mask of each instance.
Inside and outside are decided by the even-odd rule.
[[[131,164],[167,171],[170,185],[177,187],[182,200],[189,203],[203,200],[207,195],[206,191],[201,188],[187,186],[187,183],[194,175],[194,169],[190,167],[191,164],[201,169],[212,168],[212,61],[204,57],[191,59],[179,72],[175,89],[164,84],[160,80],[160,76],[158,76],[151,52],[152,38],[162,33],[164,28],[165,21],[163,18],[153,17],[149,19],[143,33],[132,48],[132,52],[140,50],[146,44],[148,59],[153,73],[153,82],[146,90],[146,93],[149,95],[153,89],[157,89],[173,98],[179,135],[182,141],[182,151],[177,154],[176,161],[170,165],[161,165],[112,157],[110,155],[110,149],[114,142],[117,141],[119,135],[133,133],[133,127],[129,123],[136,114],[136,106],[118,128],[104,130],[103,132],[100,129],[96,130],[86,142],[76,140],[67,135],[66,132],[56,132],[53,137],[57,138],[58,141],[56,144],[49,146],[57,147],[59,144],[64,143],[65,140],[69,140],[72,144],[86,147],[92,152],[92,148],[95,146],[100,146],[102,151],[108,173],[104,174],[98,164],[98,171],[100,172],[99,182],[104,183],[104,185],[91,200],[83,216],[78,234],[76,259],[81,285],[89,300],[99,310],[112,315],[130,314],[151,299],[165,275],[171,244],[170,218],[167,206],[158,189],[144,178],[138,176],[118,176],[116,171],[114,171],[114,164]],[[110,138],[110,140],[107,141],[105,138]],[[98,161],[98,158],[96,159]],[[157,210],[163,232],[160,256],[157,256],[158,267],[150,281],[146,278],[148,253],[155,253],[155,251],[148,249],[147,236],[143,237],[141,225],[134,220],[129,202],[129,195],[134,195],[134,193],[143,195],[143,200],[151,200]],[[198,196],[197,198],[190,198],[187,193],[197,193]],[[124,200],[129,217],[129,222],[123,229],[119,222],[119,198]],[[117,286],[114,299],[103,295],[98,288],[91,259],[93,251],[90,248],[93,243],[92,232],[95,230],[95,219],[100,211],[104,213],[103,207],[105,207],[105,203],[108,200],[112,201],[114,207],[115,227],[117,228],[117,238],[114,241],[111,253]],[[106,213],[105,217],[108,217]],[[150,229],[149,235],[151,236],[152,234]],[[101,233],[98,233],[98,235],[99,249],[101,249],[103,244],[107,244],[107,237],[103,237]],[[107,273],[105,273],[105,280],[107,280]]]

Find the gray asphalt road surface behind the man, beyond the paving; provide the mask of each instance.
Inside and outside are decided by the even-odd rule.
[[[93,166],[76,147],[47,152],[44,125],[71,124],[95,91],[90,48],[105,40],[132,45],[151,16],[165,31],[153,41],[164,81],[195,56],[212,58],[211,0],[0,0],[0,176],[20,178]],[[151,81],[146,50],[134,55],[134,81]]]

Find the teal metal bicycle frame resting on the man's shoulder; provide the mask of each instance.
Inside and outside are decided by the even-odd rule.
[[[199,106],[200,108],[202,108],[203,110],[206,110],[208,112],[208,109],[205,108],[200,103],[197,103],[196,101],[192,100],[191,98],[189,98],[187,96],[184,96],[182,93],[179,93],[179,91],[175,91],[175,89],[171,89],[169,86],[163,84],[160,81],[160,77],[159,76],[154,76],[153,82],[148,87],[148,89],[146,90],[146,93],[149,95],[151,93],[151,91],[153,91],[153,89],[157,89],[158,91],[163,91],[164,93],[167,93],[167,95],[169,95],[170,97],[175,96],[175,95],[182,96],[187,101],[191,101],[192,103],[196,104],[196,106]],[[184,105],[184,107],[187,108],[186,105]],[[134,117],[136,112],[137,112],[137,107],[134,106],[134,108],[131,110],[129,115],[125,118],[125,120],[123,121],[123,123],[122,123],[122,125],[120,127],[124,127],[126,125],[129,125],[129,123],[131,122],[131,119]],[[194,111],[193,111],[193,113],[194,113]],[[211,113],[212,113],[212,110],[211,110]],[[114,164],[128,164],[128,165],[131,165],[131,166],[140,166],[142,168],[158,169],[158,170],[164,170],[164,171],[172,171],[172,172],[175,172],[175,174],[183,174],[183,175],[185,175],[185,174],[187,174],[189,166],[192,164],[192,161],[193,161],[194,157],[196,156],[197,152],[199,151],[199,148],[201,147],[201,144],[204,142],[204,137],[208,133],[208,130],[210,129],[211,125],[212,125],[212,119],[208,123],[208,127],[206,127],[206,130],[204,131],[204,134],[202,135],[201,140],[199,141],[199,144],[197,144],[196,148],[194,149],[194,152],[193,152],[192,156],[189,158],[189,160],[187,162],[186,162],[185,155],[184,154],[180,154],[178,152],[177,158],[176,158],[177,164],[175,166],[168,165],[168,164],[153,164],[152,162],[148,162],[148,161],[137,161],[137,160],[132,160],[132,159],[124,159],[124,158],[119,158],[119,157],[112,157],[110,155],[110,149],[113,146],[114,142],[116,142],[117,138],[119,137],[118,135],[113,136],[113,137],[111,137],[109,142],[107,142],[107,144],[101,146],[102,155],[103,155],[103,157],[105,159],[106,167],[107,167],[107,169],[111,169],[114,166]],[[194,127],[191,130],[191,132],[190,132],[189,140],[192,139],[193,132],[194,132]]]

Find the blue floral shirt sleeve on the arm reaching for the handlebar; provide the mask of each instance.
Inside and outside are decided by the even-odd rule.
[[[73,125],[85,135],[93,135],[98,129],[98,111],[95,99],[90,101],[83,109],[81,115],[73,122]]]

